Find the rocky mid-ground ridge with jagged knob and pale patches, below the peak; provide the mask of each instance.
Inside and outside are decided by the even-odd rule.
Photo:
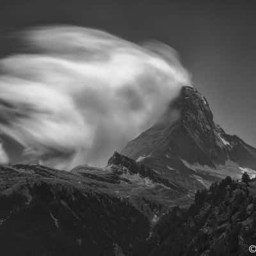
[[[171,207],[193,202],[187,189],[173,184],[154,170],[118,152],[113,154],[105,168],[83,165],[71,172],[83,179],[93,179],[102,184],[106,193],[125,198],[152,225]]]

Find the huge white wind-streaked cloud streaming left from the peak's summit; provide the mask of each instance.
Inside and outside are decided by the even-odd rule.
[[[22,36],[31,53],[0,60],[0,131],[23,146],[20,161],[102,165],[189,83],[175,51],[156,42],[72,26]]]

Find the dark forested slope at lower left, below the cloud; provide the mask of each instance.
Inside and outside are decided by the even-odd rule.
[[[149,222],[103,183],[38,165],[0,167],[1,255],[130,255]]]

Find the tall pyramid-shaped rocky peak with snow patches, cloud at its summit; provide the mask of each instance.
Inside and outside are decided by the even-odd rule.
[[[239,179],[244,170],[256,173],[256,149],[216,125],[205,97],[189,86],[121,154],[189,191],[209,188],[227,175]]]

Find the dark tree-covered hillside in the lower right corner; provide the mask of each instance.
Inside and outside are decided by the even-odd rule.
[[[175,207],[136,255],[242,256],[256,243],[256,184],[230,177],[198,191],[189,209]]]

